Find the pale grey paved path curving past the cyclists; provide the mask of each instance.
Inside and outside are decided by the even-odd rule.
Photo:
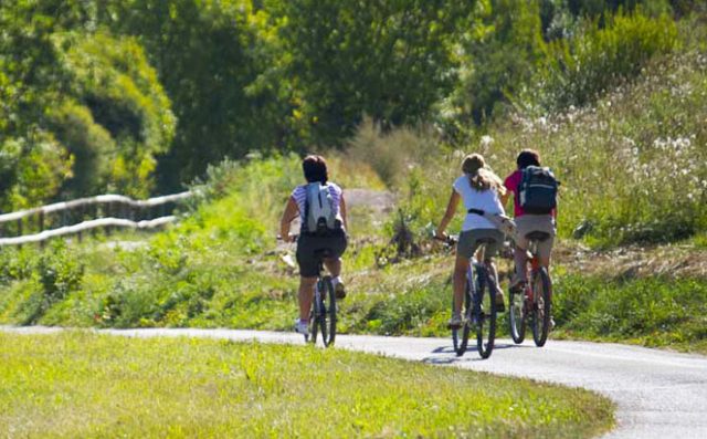
[[[0,330],[45,333],[29,327]],[[190,336],[266,343],[304,343],[296,334],[231,330],[102,331],[125,336]],[[619,406],[609,438],[707,438],[707,357],[619,344],[549,341],[544,348],[497,342],[487,360],[475,352],[456,358],[444,338],[339,336],[355,351],[579,386],[609,396]]]

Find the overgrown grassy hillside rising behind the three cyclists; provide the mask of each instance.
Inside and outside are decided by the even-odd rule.
[[[477,17],[489,35],[500,32],[505,17],[506,3],[493,3],[497,15]],[[707,28],[695,8],[679,18],[647,6],[604,11],[603,23],[576,18],[573,38],[542,33],[547,41],[536,49],[545,58],[538,54],[524,86],[492,100],[494,117],[454,101],[463,90],[482,95],[469,73],[458,77],[472,88],[437,102],[441,113],[426,114],[426,123],[395,126],[371,114],[337,137],[338,149],[321,147],[334,180],[347,189],[386,189],[397,200],[390,212],[366,206],[352,212],[345,259],[351,294],[340,330],[446,334],[452,259],[428,237],[461,158],[479,151],[505,176],[518,150],[534,147],[562,181],[556,336],[707,352]],[[263,18],[251,12],[252,20]],[[528,17],[540,27],[540,15]],[[502,36],[508,35],[473,48],[495,51],[494,44],[521,38]],[[201,196],[178,226],[109,238],[143,245],[124,250],[98,236],[45,250],[0,249],[0,322],[289,331],[296,278],[284,257],[292,249],[276,247],[274,236],[302,179],[299,156],[267,153],[211,165],[192,185]],[[502,269],[505,284],[508,263]]]

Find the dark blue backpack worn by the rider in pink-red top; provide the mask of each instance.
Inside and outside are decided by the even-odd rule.
[[[518,186],[518,205],[526,213],[548,215],[557,207],[559,184],[549,168],[528,166]]]

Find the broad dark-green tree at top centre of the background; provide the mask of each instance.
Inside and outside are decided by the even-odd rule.
[[[292,0],[266,3],[282,18],[292,56],[293,117],[316,145],[337,145],[370,116],[413,124],[454,80],[454,40],[474,2]],[[306,130],[304,130],[306,132]]]

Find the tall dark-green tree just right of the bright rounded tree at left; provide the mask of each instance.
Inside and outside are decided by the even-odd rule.
[[[110,0],[98,17],[144,44],[172,101],[176,138],[159,165],[165,190],[223,157],[285,146],[279,85],[261,77],[276,35],[252,1]]]

